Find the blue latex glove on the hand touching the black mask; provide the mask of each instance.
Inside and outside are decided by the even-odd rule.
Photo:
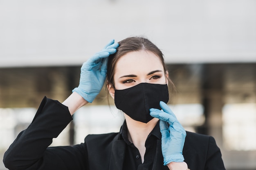
[[[162,110],[150,109],[150,115],[160,119],[159,126],[162,133],[164,165],[170,162],[183,162],[182,150],[186,131],[177,120],[175,114],[164,102],[160,102],[160,107]]]

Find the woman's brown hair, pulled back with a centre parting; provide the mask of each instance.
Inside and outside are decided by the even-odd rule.
[[[120,57],[132,51],[139,50],[147,50],[153,52],[157,57],[159,57],[162,65],[164,67],[164,72],[167,73],[167,66],[164,63],[164,55],[155,44],[143,37],[128,37],[122,41],[118,42],[119,47],[117,48],[117,52],[108,57],[108,68],[107,68],[107,76],[106,76],[106,85],[107,87],[111,85],[115,88],[114,83],[114,74],[115,74],[115,65]],[[168,77],[167,77],[168,78]],[[169,83],[173,86],[172,81],[168,78]]]

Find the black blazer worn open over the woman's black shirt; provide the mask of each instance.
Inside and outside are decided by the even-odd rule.
[[[34,120],[22,131],[4,154],[10,170],[121,170],[126,142],[119,133],[88,135],[83,144],[48,147],[52,138],[72,120],[68,108],[44,98]],[[161,140],[157,140],[154,170],[163,165]],[[187,132],[183,148],[191,170],[225,170],[220,149],[213,137]]]

